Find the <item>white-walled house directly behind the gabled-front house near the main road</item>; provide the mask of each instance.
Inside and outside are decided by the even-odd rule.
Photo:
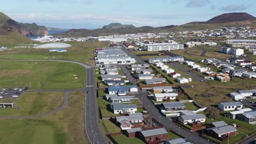
[[[115,114],[118,113],[135,113],[137,111],[137,105],[124,105],[123,103],[111,103],[111,109]]]

